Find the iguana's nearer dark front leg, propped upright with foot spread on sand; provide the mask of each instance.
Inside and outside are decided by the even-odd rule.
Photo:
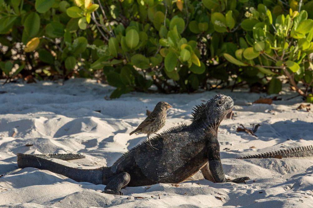
[[[208,161],[210,172],[216,183],[222,182],[244,183],[245,180],[250,180],[249,177],[241,177],[233,180],[226,179],[219,153],[219,143],[217,140],[213,142],[211,148],[209,148]]]

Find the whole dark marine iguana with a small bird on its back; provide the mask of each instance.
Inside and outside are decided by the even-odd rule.
[[[244,182],[249,177],[226,179],[220,160],[218,127],[232,108],[233,100],[218,94],[206,104],[195,107],[190,125],[179,125],[151,138],[158,150],[150,148],[144,141],[125,152],[110,167],[79,169],[45,159],[67,159],[65,155],[21,153],[18,153],[18,167],[35,167],[78,182],[104,184],[106,187],[103,193],[115,195],[122,195],[121,189],[126,186],[179,183],[200,169],[205,178],[208,174],[204,172],[209,170],[215,182]],[[83,158],[79,155],[75,157]]]

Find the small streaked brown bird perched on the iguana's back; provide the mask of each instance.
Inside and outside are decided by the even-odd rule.
[[[150,134],[160,130],[165,125],[166,111],[169,108],[172,108],[172,105],[168,104],[167,102],[158,102],[151,114],[148,115],[148,117],[143,122],[141,122],[141,124],[139,124],[139,126],[129,135],[132,135],[136,132],[146,133],[150,146],[154,148],[150,142],[149,136]]]

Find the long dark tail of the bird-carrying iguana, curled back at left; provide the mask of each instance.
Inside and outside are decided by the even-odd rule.
[[[102,171],[105,167],[95,169],[80,169],[61,165],[59,163],[47,160],[45,158],[62,158],[69,159],[67,155],[28,155],[18,153],[18,167],[34,167],[41,170],[48,170],[57,174],[61,174],[77,182],[90,182],[93,184],[102,184]],[[73,155],[72,155],[73,156]],[[76,157],[77,156],[73,156]]]

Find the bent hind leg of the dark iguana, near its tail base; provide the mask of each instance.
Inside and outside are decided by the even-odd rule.
[[[121,192],[122,188],[125,188],[129,181],[131,180],[131,176],[127,172],[122,172],[116,174],[115,176],[109,177],[105,179],[104,184],[106,184],[104,191],[102,193],[105,194],[114,194],[114,195],[123,195]]]

